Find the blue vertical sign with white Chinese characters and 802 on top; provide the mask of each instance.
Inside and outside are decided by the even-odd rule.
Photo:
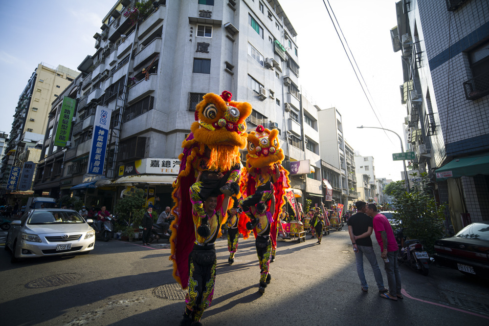
[[[87,174],[102,175],[104,173],[105,151],[109,140],[110,122],[111,110],[100,105],[97,106]]]

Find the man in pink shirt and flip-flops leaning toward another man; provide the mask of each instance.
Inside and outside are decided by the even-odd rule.
[[[400,293],[399,247],[394,237],[391,224],[387,217],[377,212],[377,206],[375,204],[368,204],[365,213],[374,218],[375,238],[382,252],[380,256],[384,260],[385,274],[389,283],[389,293],[382,293],[380,296],[393,301],[404,299]]]

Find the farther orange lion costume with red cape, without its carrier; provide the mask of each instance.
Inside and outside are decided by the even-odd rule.
[[[244,199],[240,205],[249,217],[252,228],[258,222],[250,207],[256,205],[259,213],[265,212],[265,203],[273,196],[275,209],[271,223],[270,239],[272,243],[271,261],[275,260],[277,249],[277,220],[285,204],[285,190],[290,188],[289,172],[280,163],[284,160],[284,152],[278,143],[278,130],[256,127],[248,134],[246,166],[242,170],[243,182],[241,192]]]

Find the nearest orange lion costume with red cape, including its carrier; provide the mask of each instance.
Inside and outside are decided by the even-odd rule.
[[[182,143],[180,171],[173,183],[175,205],[170,238],[173,276],[188,287],[182,325],[199,323],[214,293],[214,241],[221,236],[230,195],[239,194],[240,148],[246,146],[246,102],[231,93],[208,93],[197,105],[191,133]],[[189,260],[190,256],[190,260]],[[205,285],[204,285],[205,284]]]

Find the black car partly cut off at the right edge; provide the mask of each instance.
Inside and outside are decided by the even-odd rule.
[[[489,278],[489,221],[469,224],[451,238],[436,240],[435,251],[438,264]]]

